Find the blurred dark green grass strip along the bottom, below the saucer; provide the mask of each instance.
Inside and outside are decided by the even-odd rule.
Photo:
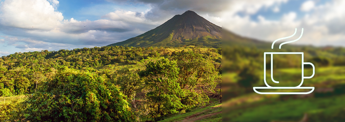
[[[331,115],[345,109],[345,95],[327,98],[267,100],[230,107],[225,118],[230,122],[299,121],[305,113],[324,112]]]

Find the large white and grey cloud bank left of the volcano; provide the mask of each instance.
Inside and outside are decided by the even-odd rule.
[[[0,42],[21,51],[105,46],[156,27],[144,17],[150,9],[111,12],[109,20],[79,21],[63,20],[58,4],[57,0],[5,0],[0,6],[0,32],[9,36]],[[110,16],[114,14],[118,16]]]

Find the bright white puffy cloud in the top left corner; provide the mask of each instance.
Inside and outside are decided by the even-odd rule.
[[[51,30],[63,20],[62,13],[55,11],[47,0],[5,0],[0,10],[1,24],[22,29]]]

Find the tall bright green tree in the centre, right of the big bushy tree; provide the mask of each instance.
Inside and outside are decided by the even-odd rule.
[[[177,83],[179,69],[176,61],[163,58],[145,66],[146,70],[140,71],[139,75],[145,79],[148,91],[147,117],[159,120],[163,115],[177,113],[184,105],[179,98],[183,93]]]

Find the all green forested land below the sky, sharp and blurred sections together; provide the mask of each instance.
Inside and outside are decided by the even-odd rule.
[[[205,114],[193,121],[344,120],[345,48],[267,45],[111,46],[3,56],[1,100],[20,99],[0,102],[0,119],[164,122]],[[255,93],[254,86],[265,86],[263,70],[270,70],[263,67],[264,52],[304,52],[304,62],[315,65],[315,76],[303,86],[316,90],[307,96]],[[279,85],[300,81],[301,59],[273,57],[274,77],[285,81]],[[312,68],[304,67],[309,76]]]

